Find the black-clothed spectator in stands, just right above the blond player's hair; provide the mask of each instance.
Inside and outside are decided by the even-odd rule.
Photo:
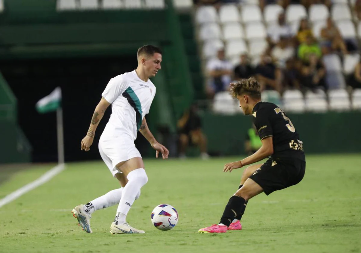
[[[261,91],[277,90],[281,92],[282,73],[272,62],[272,58],[265,53],[261,55],[260,64],[255,69],[258,83],[260,83]]]

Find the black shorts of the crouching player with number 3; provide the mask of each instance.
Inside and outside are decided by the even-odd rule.
[[[300,183],[306,162],[297,158],[270,158],[249,178],[259,184],[266,195]]]

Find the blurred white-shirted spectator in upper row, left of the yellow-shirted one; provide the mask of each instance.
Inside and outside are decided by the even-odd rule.
[[[277,24],[269,26],[267,34],[267,41],[271,47],[278,43],[281,36],[286,36],[288,38],[292,38],[294,36],[291,26],[287,25],[285,21],[284,13],[280,13],[278,15]]]

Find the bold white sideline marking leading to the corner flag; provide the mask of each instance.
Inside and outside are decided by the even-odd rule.
[[[41,177],[32,181],[31,183],[22,186],[21,188],[17,189],[15,192],[12,192],[6,195],[4,198],[0,200],[0,208],[7,203],[10,203],[16,200],[18,197],[22,196],[23,194],[30,192],[32,189],[48,182],[50,179],[58,175],[60,172],[64,170],[64,164],[58,164],[54,168],[50,169],[49,171],[45,172]]]

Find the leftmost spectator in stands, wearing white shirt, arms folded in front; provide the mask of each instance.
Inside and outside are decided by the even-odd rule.
[[[209,85],[206,93],[209,98],[213,98],[214,94],[229,89],[232,74],[232,64],[225,59],[225,51],[218,50],[217,58],[210,59],[207,63],[206,70],[210,77]]]

